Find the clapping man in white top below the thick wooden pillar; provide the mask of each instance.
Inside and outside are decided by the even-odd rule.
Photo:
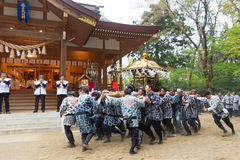
[[[62,101],[64,98],[67,97],[67,87],[68,87],[68,81],[65,81],[65,76],[61,75],[60,80],[56,82],[57,86],[57,112],[59,112],[60,105],[62,104]]]

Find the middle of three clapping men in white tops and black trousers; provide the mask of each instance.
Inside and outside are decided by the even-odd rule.
[[[45,81],[43,75],[39,76],[39,80],[35,81],[35,92],[34,92],[34,96],[35,96],[35,109],[33,111],[33,113],[37,113],[38,111],[38,102],[39,99],[41,98],[41,102],[42,102],[42,112],[45,112],[45,96],[47,95],[46,92],[46,87],[47,87],[47,81]]]

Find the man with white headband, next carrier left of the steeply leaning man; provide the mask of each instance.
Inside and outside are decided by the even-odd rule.
[[[186,136],[192,135],[188,124],[193,127],[194,133],[196,135],[199,135],[198,128],[195,123],[195,119],[197,117],[194,110],[197,109],[197,107],[194,98],[183,92],[181,88],[177,89],[177,94],[178,95],[176,100],[179,100],[179,102],[177,101],[177,103],[182,106],[182,124],[187,132]]]

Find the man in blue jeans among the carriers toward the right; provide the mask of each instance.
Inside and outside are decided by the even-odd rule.
[[[169,91],[170,91],[169,96],[173,100],[173,103],[172,103],[173,125],[176,128],[176,132],[181,133],[183,135],[184,132],[183,132],[183,127],[182,127],[182,123],[181,123],[182,106],[180,105],[180,97],[178,96],[178,94],[175,93],[174,88],[171,88]],[[177,98],[179,98],[179,99],[177,99]]]

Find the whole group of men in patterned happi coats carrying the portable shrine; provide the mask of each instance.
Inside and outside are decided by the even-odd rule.
[[[191,95],[181,88],[177,89],[177,93],[174,89],[167,93],[165,87],[158,93],[153,90],[152,84],[138,89],[138,92],[134,91],[132,85],[127,85],[124,96],[120,98],[109,96],[108,90],[100,93],[93,89],[90,93],[87,87],[79,90],[77,98],[74,91],[68,91],[68,97],[63,99],[60,106],[60,117],[64,115],[65,134],[71,143],[67,147],[75,147],[70,128],[77,122],[83,152],[92,150],[89,141],[95,134],[97,135],[95,141],[105,139],[104,143],[109,143],[111,133],[119,134],[123,141],[128,130],[127,137],[132,137],[129,153],[137,154],[134,149],[141,147],[144,133],[150,137],[149,144],[154,144],[157,140],[151,126],[158,136],[158,144],[163,144],[163,139],[168,136],[174,137],[178,133],[190,136],[191,130],[194,134],[200,135],[201,122],[198,117],[200,108],[203,108],[203,111],[212,111],[214,122],[222,129],[223,136],[228,132],[220,122],[221,119],[231,128],[232,134],[235,134],[228,111],[218,96],[212,96],[209,91],[204,93],[204,97],[199,97],[195,89]],[[116,92],[116,95],[120,96],[120,93]],[[209,107],[205,108],[205,104]]]

